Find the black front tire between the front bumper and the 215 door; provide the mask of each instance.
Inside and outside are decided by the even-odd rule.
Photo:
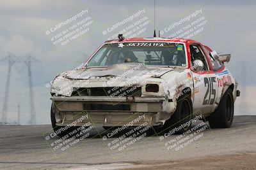
[[[175,127],[178,128],[181,125],[186,124],[186,122],[191,120],[192,111],[193,106],[190,95],[184,94],[184,96],[179,97],[175,112],[168,120],[166,120],[163,128],[166,131],[170,131],[170,129],[175,129]],[[184,128],[180,129],[180,131],[175,131],[174,134],[182,134],[188,131],[190,127],[191,124],[186,125]]]

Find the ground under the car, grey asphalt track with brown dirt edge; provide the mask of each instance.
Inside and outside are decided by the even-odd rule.
[[[236,116],[230,129],[205,129],[202,138],[180,150],[168,150],[162,134],[149,130],[113,151],[109,141],[121,134],[104,141],[109,131],[97,127],[76,145],[56,151],[51,143],[59,138],[44,137],[51,130],[51,125],[0,125],[0,169],[256,169],[256,116]]]

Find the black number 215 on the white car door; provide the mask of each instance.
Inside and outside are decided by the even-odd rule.
[[[213,83],[216,83],[215,77],[205,77],[204,78],[204,86],[206,87],[207,85],[207,90],[204,96],[204,102],[203,104],[213,104],[215,101],[215,97],[216,97],[216,90],[213,89]],[[212,97],[213,96],[213,97]]]

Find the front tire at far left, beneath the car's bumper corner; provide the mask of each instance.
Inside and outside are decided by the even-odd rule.
[[[68,133],[74,131],[76,129],[76,127],[69,127],[67,130],[60,132],[61,127],[65,127],[65,126],[56,125],[56,116],[55,116],[56,115],[56,108],[55,107],[56,107],[55,104],[52,102],[52,106],[51,106],[52,129],[58,136],[63,137],[65,135],[67,135]]]

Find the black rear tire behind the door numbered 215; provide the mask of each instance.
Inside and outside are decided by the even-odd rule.
[[[231,89],[227,89],[221,98],[218,108],[210,115],[211,128],[228,128],[234,117],[234,97]]]

